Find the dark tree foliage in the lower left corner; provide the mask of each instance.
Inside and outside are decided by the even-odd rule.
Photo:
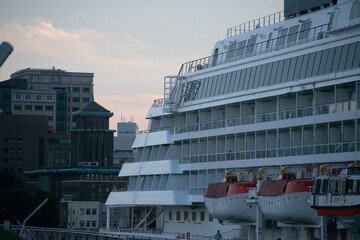
[[[20,179],[7,171],[0,173],[0,222],[16,219],[23,222],[46,198],[49,200],[26,224],[37,227],[57,227],[59,223],[59,200],[49,192],[28,193]],[[11,214],[13,216],[11,216]],[[16,219],[15,219],[16,218]],[[2,238],[1,238],[2,239]]]

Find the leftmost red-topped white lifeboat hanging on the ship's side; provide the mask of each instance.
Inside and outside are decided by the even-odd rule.
[[[256,208],[246,203],[251,188],[256,188],[256,182],[238,181],[236,176],[226,176],[223,182],[207,187],[205,206],[220,222],[253,223],[256,221]]]

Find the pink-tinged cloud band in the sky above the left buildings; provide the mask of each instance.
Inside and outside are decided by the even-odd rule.
[[[18,53],[59,58],[70,62],[129,67],[161,67],[164,64],[142,57],[147,46],[128,32],[104,33],[93,29],[67,30],[51,22],[33,19],[22,25],[0,26],[0,36]]]

